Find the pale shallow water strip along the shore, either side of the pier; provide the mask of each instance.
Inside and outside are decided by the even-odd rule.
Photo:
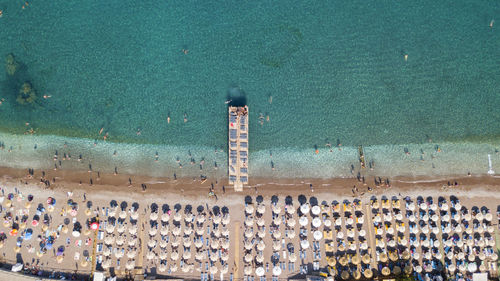
[[[89,163],[94,171],[112,173],[117,167],[119,173],[140,174],[148,176],[172,177],[225,177],[227,175],[227,152],[215,153],[212,147],[123,144],[99,142],[94,146],[90,139],[67,138],[59,136],[31,136],[0,133],[0,141],[5,143],[5,150],[0,151],[2,166],[12,168],[52,169],[56,163],[54,153],[58,151],[58,159],[62,169],[87,170]],[[64,144],[67,143],[67,147]],[[37,149],[34,149],[35,144]],[[8,152],[12,146],[12,152]],[[487,174],[487,155],[494,151],[494,146],[480,143],[441,143],[441,152],[437,152],[435,144],[410,145],[375,145],[366,146],[366,162],[373,160],[373,171],[367,167],[368,174],[377,176],[444,176]],[[404,153],[408,148],[410,154]],[[117,155],[114,156],[114,151]],[[421,154],[421,150],[425,154]],[[191,151],[196,164],[190,164]],[[272,151],[272,157],[270,156]],[[158,152],[158,161],[155,154]],[[62,160],[64,153],[71,154],[71,160]],[[82,154],[83,160],[77,161]],[[432,155],[432,156],[431,156]],[[183,168],[177,163],[179,157]],[[203,170],[200,160],[205,158]],[[421,157],[424,161],[421,160]],[[491,169],[500,169],[499,154],[491,155]],[[271,161],[275,170],[271,169]],[[217,162],[218,169],[215,169]],[[58,163],[58,162],[57,162]],[[332,178],[352,177],[351,165],[359,170],[358,148],[342,147],[342,150],[276,148],[265,151],[250,151],[250,177],[275,178]]]

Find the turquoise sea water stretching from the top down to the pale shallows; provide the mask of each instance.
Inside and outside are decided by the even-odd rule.
[[[281,176],[344,175],[314,165],[345,169],[355,149],[308,158],[327,139],[377,148],[379,158],[403,157],[406,144],[418,154],[423,143],[428,151],[455,143],[481,165],[485,153],[498,158],[500,18],[490,27],[498,1],[23,2],[0,0],[0,54],[21,66],[14,76],[0,71],[0,129],[62,136],[40,138],[42,148],[100,137],[95,158],[113,153],[109,142],[144,161],[162,151],[157,173],[178,156],[188,162],[188,150],[225,165],[225,152],[214,153],[227,146],[224,101],[242,95],[250,161],[262,163],[254,176],[271,173],[269,151]],[[33,106],[16,102],[24,81],[37,91]],[[261,126],[260,114],[270,121]],[[26,152],[26,165],[39,154]]]

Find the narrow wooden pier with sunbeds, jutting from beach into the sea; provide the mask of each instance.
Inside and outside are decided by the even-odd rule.
[[[235,191],[248,185],[248,106],[229,107],[229,184]]]

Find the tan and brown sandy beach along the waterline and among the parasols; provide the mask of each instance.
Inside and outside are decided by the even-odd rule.
[[[191,267],[189,269],[186,269],[186,272],[182,272],[180,269],[176,272],[172,272],[170,271],[170,269],[168,271],[165,271],[165,267],[163,268],[164,272],[159,272],[158,269],[161,266],[161,262],[158,262],[160,260],[159,255],[164,254],[161,253],[161,250],[151,250],[157,249],[158,244],[155,244],[154,247],[149,248],[149,251],[151,251],[152,253],[148,254],[148,241],[156,236],[150,236],[149,240],[146,239],[148,237],[148,233],[151,234],[153,228],[156,229],[154,231],[155,235],[157,235],[156,232],[160,232],[159,230],[162,229],[162,227],[159,227],[157,224],[153,224],[150,221],[150,218],[152,218],[151,207],[154,204],[160,206],[160,209],[162,208],[161,206],[164,206],[164,204],[170,206],[169,208],[171,209],[174,209],[174,206],[177,207],[178,205],[179,211],[184,211],[186,206],[190,206],[190,208],[192,206],[193,209],[201,206],[206,208],[206,211],[211,210],[214,207],[227,208],[231,222],[229,225],[224,226],[222,230],[224,231],[227,228],[227,230],[229,231],[229,235],[227,236],[227,238],[224,238],[225,240],[223,240],[223,237],[219,238],[219,241],[223,242],[227,240],[227,242],[230,243],[228,251],[229,255],[226,261],[224,261],[224,264],[227,264],[225,269],[227,273],[225,274],[225,276],[220,276],[220,270],[224,268],[224,266],[222,264],[214,264],[213,266],[218,266],[219,270],[219,272],[215,274],[215,278],[217,280],[229,279],[229,276],[234,279],[243,278],[246,276],[246,274],[244,274],[243,272],[243,268],[246,269],[246,267],[244,266],[244,264],[246,264],[244,260],[245,248],[243,248],[246,240],[243,237],[243,233],[245,233],[248,226],[247,219],[249,214],[247,214],[245,211],[245,206],[247,205],[246,203],[248,203],[246,201],[248,200],[251,200],[252,204],[254,204],[257,198],[260,198],[260,200],[262,200],[263,202],[262,204],[268,207],[267,213],[265,213],[262,218],[264,219],[266,226],[271,223],[269,224],[270,229],[272,229],[273,223],[275,222],[273,222],[275,214],[269,210],[269,206],[272,206],[271,199],[274,198],[273,196],[276,196],[276,198],[278,198],[279,200],[279,204],[281,204],[280,206],[283,206],[285,208],[286,206],[284,206],[283,204],[285,201],[285,197],[287,196],[293,198],[295,204],[294,206],[297,207],[299,206],[298,198],[301,197],[305,197],[308,199],[315,198],[314,200],[317,200],[318,202],[343,202],[344,200],[352,201],[354,199],[359,199],[360,202],[366,204],[366,206],[368,207],[368,203],[370,202],[370,198],[372,196],[376,196],[377,198],[382,198],[381,196],[387,196],[389,198],[391,198],[392,196],[396,196],[399,199],[402,199],[406,196],[413,198],[417,198],[417,196],[433,196],[435,200],[437,200],[438,196],[449,197],[451,195],[454,195],[460,198],[462,205],[467,206],[468,208],[471,208],[473,206],[486,206],[494,214],[496,214],[497,205],[500,204],[500,193],[498,192],[498,190],[500,189],[500,179],[491,176],[465,176],[460,178],[395,178],[390,179],[390,187],[386,185],[376,187],[374,184],[363,185],[363,183],[358,181],[356,178],[329,180],[252,179],[252,185],[250,187],[245,188],[243,192],[236,193],[232,190],[231,187],[225,184],[227,180],[221,180],[220,182],[201,181],[199,178],[182,178],[174,180],[171,178],[148,178],[129,176],[124,174],[98,175],[95,172],[51,170],[45,172],[44,179],[50,181],[50,187],[48,187],[46,183],[41,182],[42,171],[34,171],[33,175],[29,176],[27,170],[2,168],[0,170],[0,174],[2,175],[1,187],[4,191],[4,196],[9,193],[15,192],[23,194],[24,197],[30,194],[35,198],[33,201],[34,206],[36,206],[35,202],[45,204],[47,197],[54,198],[57,201],[56,211],[52,215],[54,218],[51,217],[50,228],[57,228],[59,226],[57,232],[61,235],[61,237],[57,239],[57,243],[54,243],[54,246],[66,245],[66,249],[64,250],[64,259],[56,262],[57,256],[55,253],[50,255],[46,253],[41,257],[37,257],[33,252],[30,253],[28,252],[28,249],[24,248],[27,241],[24,242],[23,248],[20,250],[23,262],[25,264],[31,264],[31,266],[33,264],[37,264],[45,272],[50,272],[53,270],[57,272],[77,271],[81,274],[90,273],[91,264],[84,263],[85,266],[82,266],[82,259],[84,257],[92,255],[93,249],[91,241],[93,239],[93,233],[83,231],[83,235],[81,236],[81,238],[75,239],[69,235],[71,233],[71,229],[69,229],[70,231],[68,234],[64,234],[61,232],[61,227],[63,226],[63,221],[64,218],[66,218],[66,215],[63,216],[61,214],[61,216],[59,217],[58,212],[61,206],[65,206],[65,202],[68,199],[72,199],[76,204],[78,204],[78,214],[75,215],[75,219],[81,222],[82,225],[84,225],[84,222],[87,219],[97,214],[100,215],[101,222],[108,221],[109,218],[107,218],[107,215],[105,216],[103,212],[104,208],[106,208],[106,213],[108,212],[108,208],[110,208],[110,203],[112,200],[115,200],[118,204],[120,204],[121,202],[126,202],[128,204],[128,208],[123,209],[127,211],[127,216],[132,214],[132,211],[129,210],[132,204],[137,203],[139,208],[138,210],[135,210],[138,214],[138,219],[136,220],[135,225],[138,226],[136,227],[136,229],[138,229],[138,233],[136,234],[134,232],[134,235],[131,235],[128,231],[125,230],[122,230],[122,232],[120,233],[117,233],[116,231],[118,230],[115,230],[114,232],[109,234],[113,236],[113,241],[116,241],[116,239],[118,239],[119,237],[122,237],[119,239],[124,239],[125,243],[128,243],[128,241],[134,240],[136,238],[137,240],[139,240],[139,242],[134,241],[133,244],[130,244],[133,245],[133,249],[136,253],[136,256],[134,256],[135,263],[133,265],[130,265],[131,267],[133,266],[134,270],[126,270],[126,264],[124,264],[124,262],[122,262],[122,265],[119,266],[117,264],[119,258],[115,256],[120,255],[116,255],[116,250],[113,249],[113,253],[115,255],[111,256],[111,260],[109,262],[110,265],[106,266],[108,270],[111,271],[106,272],[116,274],[118,277],[124,277],[127,274],[146,273],[150,275],[157,274],[158,276],[200,278],[200,272],[203,273],[206,271],[210,271],[208,267],[205,268],[205,264],[200,263],[200,268],[198,268],[197,263],[191,263]],[[92,185],[90,184],[89,179],[92,179]],[[132,182],[131,185],[129,179]],[[373,179],[366,180],[367,183],[369,181],[374,182]],[[455,186],[455,182],[457,182],[457,186]],[[448,186],[448,183],[450,183],[451,186]],[[224,189],[222,188],[223,185]],[[354,189],[354,187],[356,187],[356,189]],[[209,196],[210,191],[212,191],[215,196]],[[68,192],[70,193],[68,194]],[[12,202],[13,205],[24,204],[24,202]],[[91,206],[88,205],[88,202],[92,202]],[[92,210],[92,214],[87,215],[84,213],[85,209],[87,208]],[[117,210],[117,217],[119,212],[120,210]],[[195,213],[195,211],[193,212]],[[201,213],[199,213],[199,215],[200,214]],[[272,217],[271,214],[273,214]],[[159,211],[159,215],[161,216],[161,211]],[[205,212],[204,215],[206,215]],[[32,216],[32,214],[30,214],[30,216]],[[187,215],[183,213],[183,216]],[[210,216],[212,216],[212,214],[210,214]],[[253,214],[251,216],[253,216]],[[68,217],[71,218],[69,215]],[[158,217],[157,220],[158,222],[160,222],[159,216],[156,217]],[[208,231],[213,231],[217,227],[216,225],[213,225],[212,220],[214,218],[215,217],[207,216],[207,223],[212,223],[212,225],[208,224]],[[298,220],[298,217],[296,218]],[[180,218],[179,222],[183,222],[183,219],[184,217],[182,217],[182,219]],[[311,217],[310,219],[313,219],[313,217]],[[183,228],[184,231],[187,231],[186,228],[188,228],[187,220],[188,219],[186,218],[186,225],[184,225]],[[292,220],[295,219],[292,218]],[[127,225],[127,223],[129,222],[125,222],[125,225]],[[495,215],[494,224],[496,225],[497,223],[498,221],[496,220]],[[71,226],[71,224],[69,224],[68,227],[69,226]],[[130,228],[132,227],[132,224],[129,223],[128,226]],[[166,224],[163,224],[163,226],[166,226]],[[204,227],[207,226],[205,225]],[[101,228],[104,232],[104,225],[102,223]],[[124,229],[128,230],[129,228]],[[170,231],[172,231],[174,228],[175,225],[172,224],[170,227]],[[369,233],[369,227],[363,226],[363,228],[366,229],[367,233]],[[7,228],[2,229],[2,231],[8,233],[10,230]],[[313,230],[311,230],[311,232],[312,231]],[[101,244],[103,243],[106,235],[108,235],[108,233],[104,233],[105,236],[100,237],[102,241],[97,242]],[[132,232],[130,231],[130,233]],[[283,233],[286,233],[286,235],[288,236],[288,232]],[[186,233],[184,233],[184,237],[196,236],[195,234],[190,235],[191,236],[186,236]],[[299,235],[295,237],[294,235],[295,238],[290,239],[291,243],[299,245],[298,236]],[[163,237],[163,235],[161,237]],[[79,240],[81,240],[81,242]],[[267,237],[264,238],[267,248],[263,251],[263,255],[266,261],[270,260],[270,258],[273,256],[273,253],[276,252],[273,251],[271,247],[271,245],[273,245],[274,243],[273,241],[275,240],[279,241],[279,239],[271,237],[270,234],[268,234]],[[372,241],[372,239],[370,238],[368,240]],[[158,241],[161,242],[161,240]],[[320,248],[324,249],[324,240],[321,240],[320,242]],[[175,242],[170,241],[170,243]],[[15,244],[16,239],[9,236],[4,246],[4,261],[15,263],[16,259],[19,259],[19,256],[14,251],[11,251],[11,249],[15,248]],[[30,247],[35,247],[35,245],[32,245]],[[126,248],[126,245],[124,247]],[[120,249],[119,246],[117,248],[118,250]],[[191,251],[191,248],[188,248],[189,249],[187,251]],[[202,253],[206,254],[207,252],[213,250],[211,246],[209,247],[208,245],[206,246],[206,248],[207,249],[205,250],[205,252],[200,252],[200,255]],[[132,249],[132,246],[130,246],[129,249]],[[184,249],[186,251],[186,248]],[[101,252],[102,251],[105,250],[101,249]],[[169,253],[169,255],[171,255],[172,251],[177,250],[168,250],[167,252]],[[198,251],[198,249],[196,249],[196,251]],[[79,253],[77,255],[82,256],[79,260],[76,260],[76,258],[74,258],[76,252]],[[102,255],[101,252],[98,253],[98,256]],[[192,254],[193,256],[194,253],[195,252],[193,252]],[[321,260],[321,266],[326,266],[324,256]],[[306,264],[312,263],[313,257],[311,255],[307,255],[307,258],[302,262]],[[283,264],[283,268],[285,267],[286,266]],[[299,266],[297,265],[293,267],[293,270],[290,270],[289,265],[288,271],[285,272],[285,270],[283,270],[283,274],[280,276],[280,278],[283,278],[285,276],[289,277],[297,275],[299,273],[298,268]],[[203,275],[201,278],[203,278]]]

